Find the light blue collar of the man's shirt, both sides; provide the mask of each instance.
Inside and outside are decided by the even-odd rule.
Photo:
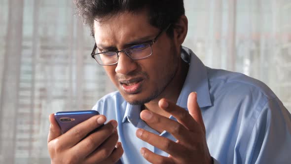
[[[199,107],[211,106],[212,102],[209,94],[206,66],[189,48],[182,47],[181,56],[185,62],[189,63],[189,70],[177,100],[177,105],[187,109],[188,95],[191,92],[197,92],[197,102]],[[140,112],[140,105],[131,105],[127,103],[122,123],[128,120],[134,126],[137,126],[140,120]]]

